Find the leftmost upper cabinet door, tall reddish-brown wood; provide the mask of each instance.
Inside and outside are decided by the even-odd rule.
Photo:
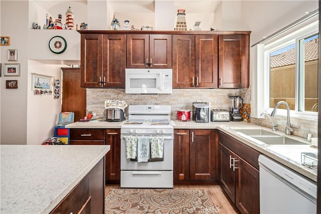
[[[81,87],[102,87],[102,35],[80,37]]]

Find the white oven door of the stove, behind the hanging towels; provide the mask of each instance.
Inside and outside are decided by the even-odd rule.
[[[121,170],[173,170],[174,168],[174,137],[163,135],[164,154],[162,159],[148,160],[148,162],[137,162],[137,159],[126,158],[126,136],[152,136],[152,135],[121,135],[120,140],[120,169]]]

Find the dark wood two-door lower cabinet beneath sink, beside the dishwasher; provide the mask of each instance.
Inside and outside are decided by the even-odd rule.
[[[219,181],[241,213],[260,212],[259,152],[219,133]]]

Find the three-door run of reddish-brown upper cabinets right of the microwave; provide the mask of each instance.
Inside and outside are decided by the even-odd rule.
[[[249,32],[173,35],[173,88],[249,87]]]

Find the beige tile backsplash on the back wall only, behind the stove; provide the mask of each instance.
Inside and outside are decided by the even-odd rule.
[[[173,89],[172,94],[125,94],[120,88],[87,88],[87,109],[103,116],[105,100],[124,100],[127,105],[157,104],[172,107],[171,119],[176,119],[176,109],[192,110],[192,103],[197,100],[210,102],[211,109],[230,107],[229,94],[240,95],[244,103],[250,102],[250,89]],[[127,115],[128,108],[125,113]]]

